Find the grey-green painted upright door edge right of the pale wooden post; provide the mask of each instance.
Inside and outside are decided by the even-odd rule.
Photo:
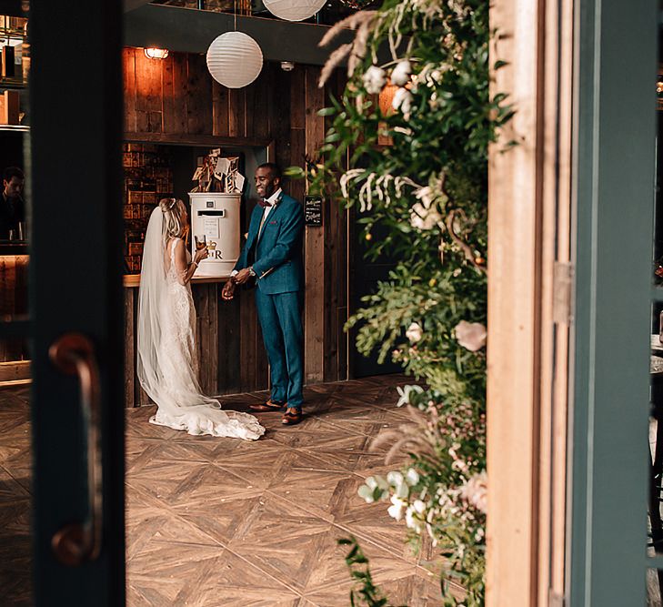
[[[574,607],[646,601],[657,36],[653,0],[576,3]]]

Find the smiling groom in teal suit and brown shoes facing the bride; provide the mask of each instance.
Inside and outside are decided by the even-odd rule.
[[[301,306],[303,296],[302,206],[281,191],[281,171],[267,162],[256,168],[259,205],[251,215],[246,244],[221,292],[235,297],[236,285],[256,280],[256,309],[271,369],[271,396],[255,411],[285,408],[282,422],[302,420],[304,383]]]

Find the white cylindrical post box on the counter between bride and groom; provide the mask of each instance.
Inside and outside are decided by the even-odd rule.
[[[209,257],[200,262],[195,277],[228,278],[239,258],[241,194],[192,192],[191,254],[206,247]]]

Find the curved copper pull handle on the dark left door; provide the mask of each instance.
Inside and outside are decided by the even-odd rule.
[[[95,561],[101,551],[103,523],[103,480],[100,430],[99,368],[92,342],[80,333],[67,333],[48,349],[48,357],[66,375],[80,382],[80,405],[87,440],[87,518],[65,525],[51,540],[58,561],[79,565]]]

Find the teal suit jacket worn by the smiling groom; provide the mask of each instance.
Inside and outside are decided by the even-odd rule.
[[[257,205],[235,269],[253,266],[257,286],[266,295],[302,290],[304,209],[295,198],[281,194],[258,234],[262,217],[263,207]]]

